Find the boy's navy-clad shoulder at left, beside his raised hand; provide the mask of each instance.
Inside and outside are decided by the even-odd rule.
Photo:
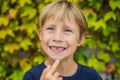
[[[33,80],[33,79],[38,80],[44,68],[45,68],[44,63],[41,63],[33,67],[32,69],[28,70],[25,73],[23,80]]]

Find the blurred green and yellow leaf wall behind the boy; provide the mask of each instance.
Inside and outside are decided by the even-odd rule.
[[[0,80],[22,80],[25,71],[45,59],[37,36],[38,17],[53,1],[0,0]],[[116,76],[120,76],[120,1],[69,1],[87,15],[92,36],[78,48],[75,59],[98,71],[114,59]]]

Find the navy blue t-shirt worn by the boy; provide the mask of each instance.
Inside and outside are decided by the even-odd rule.
[[[71,66],[70,66],[71,67]],[[27,71],[23,80],[40,80],[42,71],[46,68],[44,62]],[[72,76],[63,76],[63,80],[102,80],[98,73],[87,66],[78,64],[76,73]]]

